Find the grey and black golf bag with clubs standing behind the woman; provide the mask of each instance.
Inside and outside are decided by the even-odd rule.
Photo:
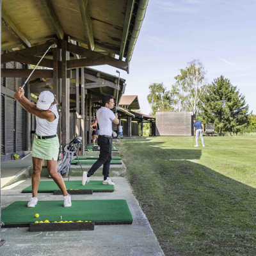
[[[79,148],[82,145],[82,137],[77,136],[69,144],[65,145],[57,161],[57,172],[62,176],[69,173],[71,161],[76,159]]]

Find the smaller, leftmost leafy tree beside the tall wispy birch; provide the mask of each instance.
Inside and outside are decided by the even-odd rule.
[[[156,115],[157,111],[172,111],[173,99],[172,93],[164,87],[163,83],[151,83],[149,86],[148,103],[152,112],[150,115]]]

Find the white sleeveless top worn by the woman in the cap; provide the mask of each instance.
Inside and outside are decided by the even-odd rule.
[[[41,136],[51,136],[57,133],[59,114],[57,105],[54,104],[49,108],[52,113],[55,115],[55,120],[53,122],[49,122],[46,119],[42,119],[36,116],[36,134]]]

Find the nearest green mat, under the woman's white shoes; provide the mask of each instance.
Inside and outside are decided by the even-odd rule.
[[[60,216],[62,221],[94,221],[95,225],[132,224],[133,221],[126,200],[72,200],[71,207],[63,207],[63,200],[39,200],[35,207],[27,204],[28,201],[17,201],[4,208],[2,227],[29,227],[35,221],[60,221]]]

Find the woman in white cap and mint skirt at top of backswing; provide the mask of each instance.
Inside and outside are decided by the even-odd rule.
[[[57,100],[49,91],[41,92],[37,103],[33,103],[24,96],[24,90],[20,87],[13,95],[22,107],[29,113],[36,116],[36,133],[32,147],[32,195],[29,199],[28,207],[35,207],[38,202],[37,192],[40,182],[40,173],[44,159],[47,160],[47,169],[49,175],[61,189],[64,196],[64,207],[71,206],[71,197],[67,193],[65,183],[60,173],[57,172],[57,159],[59,154],[59,140],[57,136],[57,127],[59,114],[57,109]]]

